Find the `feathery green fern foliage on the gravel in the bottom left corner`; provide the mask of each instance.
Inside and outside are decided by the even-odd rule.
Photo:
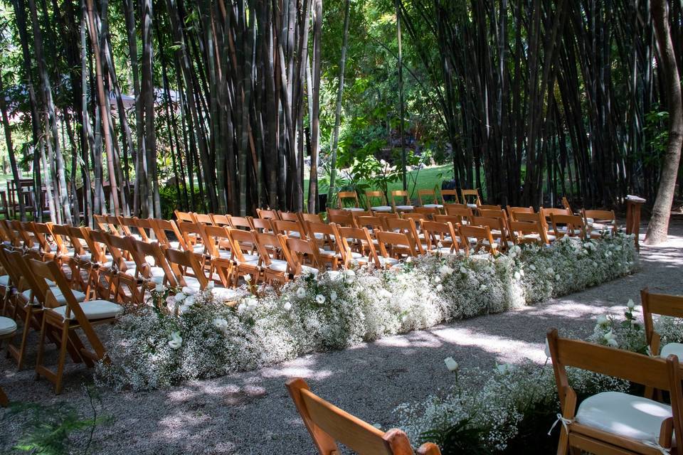
[[[88,454],[92,434],[98,425],[110,422],[108,415],[98,415],[95,401],[101,402],[96,392],[86,387],[92,409],[91,417],[84,417],[69,402],[51,405],[41,403],[13,402],[4,419],[22,422],[21,436],[13,449],[31,454],[60,455],[70,453],[70,440],[75,434],[88,434],[88,440],[81,453]]]

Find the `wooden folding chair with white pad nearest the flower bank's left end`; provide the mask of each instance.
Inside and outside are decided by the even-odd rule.
[[[40,262],[36,259],[30,259],[29,264],[37,278],[48,279],[55,283],[55,288],[59,289],[61,296],[66,302],[65,305],[60,304],[59,299],[55,295],[54,288],[49,288],[46,291],[45,310],[43,311],[43,323],[40,340],[38,341],[38,358],[36,360],[36,376],[43,376],[53,382],[55,393],[59,394],[62,391],[62,378],[68,344],[71,343],[88,367],[94,366],[99,361],[109,363],[110,360],[105,347],[92,327],[102,323],[112,323],[116,316],[122,314],[123,307],[106,300],[90,300],[79,303],[73,295],[68,282],[66,282],[59,264],[54,261]],[[86,349],[78,337],[76,331],[79,328],[85,333],[85,337],[88,339],[92,350]],[[60,334],[56,371],[49,369],[43,363],[45,337],[48,331]]]

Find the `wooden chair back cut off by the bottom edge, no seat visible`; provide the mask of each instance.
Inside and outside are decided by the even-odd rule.
[[[341,454],[337,441],[359,455],[413,455],[413,447],[400,429],[386,433],[376,429],[315,395],[301,378],[290,379],[286,385],[320,455]],[[418,449],[418,455],[440,453],[431,442]]]

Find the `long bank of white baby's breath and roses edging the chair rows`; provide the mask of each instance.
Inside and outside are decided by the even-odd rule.
[[[154,304],[121,316],[112,363],[97,377],[144,390],[260,368],[438,323],[492,314],[581,291],[631,273],[632,236],[558,240],[507,254],[429,254],[391,270],[323,272],[279,290],[241,288],[236,306],[211,289],[152,292]],[[253,295],[254,291],[258,296]]]

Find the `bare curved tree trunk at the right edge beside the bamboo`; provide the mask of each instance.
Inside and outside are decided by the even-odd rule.
[[[676,189],[678,165],[683,144],[683,100],[681,99],[681,80],[671,31],[669,30],[669,6],[665,0],[652,0],[652,18],[659,44],[664,80],[669,95],[669,144],[663,157],[660,174],[660,188],[657,191],[652,218],[647,225],[646,245],[666,242],[669,232],[669,217]]]

